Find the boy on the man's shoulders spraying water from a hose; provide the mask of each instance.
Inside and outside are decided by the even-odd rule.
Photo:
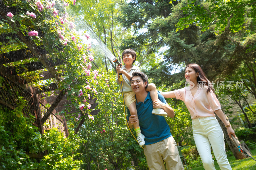
[[[123,76],[124,102],[126,106],[129,108],[131,115],[135,115],[138,118],[136,103],[135,103],[135,93],[132,91],[131,82],[130,82],[132,73],[140,71],[139,67],[132,65],[135,62],[137,55],[133,49],[129,48],[123,51],[122,58],[124,62],[123,69],[121,69],[119,65],[116,66],[116,70],[117,70],[116,83],[121,84],[119,80],[119,73],[122,73],[124,75]],[[153,83],[150,83],[148,85],[147,91],[148,92],[150,91],[150,97],[152,101],[158,100],[156,86]],[[159,115],[159,116],[167,116],[167,113],[165,113],[164,110],[160,108],[153,109],[152,114]],[[139,121],[134,123],[133,126],[137,134],[138,143],[140,146],[143,146],[145,144],[145,141],[144,141],[145,137],[143,134],[141,134]]]

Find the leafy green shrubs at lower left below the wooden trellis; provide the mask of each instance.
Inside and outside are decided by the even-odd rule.
[[[44,135],[33,125],[32,115],[22,114],[25,105],[22,97],[15,110],[0,107],[0,169],[79,169],[82,139],[70,131],[65,138],[57,129]],[[30,158],[28,153],[47,150],[43,159]]]

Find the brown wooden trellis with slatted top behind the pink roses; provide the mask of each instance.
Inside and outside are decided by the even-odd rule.
[[[6,39],[4,37],[7,36],[7,33],[3,33],[0,35],[0,41],[5,42]],[[14,34],[12,36],[18,35]],[[45,51],[42,46],[36,47],[38,48],[40,55],[46,55],[48,52]],[[18,96],[22,96],[26,100],[26,107],[23,108],[23,114],[25,116],[29,116],[29,114],[36,117],[34,125],[40,129],[40,132],[43,134],[44,130],[57,128],[60,132],[63,133],[66,137],[68,137],[68,129],[66,118],[64,114],[59,115],[60,111],[65,111],[66,114],[71,114],[71,116],[75,116],[76,114],[82,112],[75,107],[71,107],[70,110],[67,110],[66,104],[70,104],[67,97],[67,90],[63,89],[62,91],[55,90],[58,88],[56,83],[50,84],[48,87],[43,87],[42,90],[33,88],[28,85],[31,83],[33,79],[23,79],[19,75],[23,73],[27,73],[30,71],[37,71],[38,74],[44,75],[42,80],[56,78],[56,76],[63,75],[52,75],[52,71],[47,70],[43,71],[42,69],[49,68],[49,65],[45,66],[45,63],[50,63],[51,67],[55,67],[57,65],[65,64],[64,61],[57,60],[53,62],[53,59],[44,58],[44,63],[41,61],[37,62],[29,62],[23,63],[18,66],[6,66],[7,63],[17,62],[29,58],[34,58],[35,55],[30,49],[20,49],[17,51],[11,51],[8,53],[0,54],[0,76],[4,78],[2,82],[3,88],[0,90],[0,104],[11,109],[16,107],[16,103],[18,101]],[[52,69],[53,70],[53,69]],[[57,79],[57,78],[56,78]],[[43,97],[42,92],[54,91],[56,95]],[[90,109],[94,109],[98,103],[95,103],[97,98],[93,98],[93,94],[91,94],[92,98],[88,101],[89,104],[92,105]],[[45,105],[49,103],[51,107],[46,108]],[[81,114],[84,114],[83,112]],[[92,110],[91,115],[97,115],[100,109]],[[88,114],[87,114],[88,115]],[[76,133],[84,123],[85,119],[82,119],[78,127],[76,128]],[[44,122],[47,122],[49,127],[44,127]]]

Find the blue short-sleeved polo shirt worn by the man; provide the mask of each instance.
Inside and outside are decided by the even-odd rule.
[[[157,92],[158,99],[166,104],[166,100]],[[169,125],[165,121],[163,116],[158,116],[152,114],[153,110],[153,102],[150,98],[150,92],[143,102],[137,103],[136,100],[136,108],[138,112],[138,118],[140,123],[141,133],[145,136],[145,145],[154,144],[156,142],[160,142],[168,137],[171,137],[172,134],[170,132]],[[129,121],[130,111],[127,108],[127,120]]]

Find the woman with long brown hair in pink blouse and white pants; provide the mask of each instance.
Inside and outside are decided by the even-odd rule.
[[[220,169],[232,169],[225,152],[223,131],[213,112],[225,124],[229,137],[231,135],[235,136],[235,132],[221,110],[220,102],[214,94],[211,82],[205,77],[203,70],[197,64],[188,64],[186,66],[185,78],[190,86],[172,92],[161,92],[161,94],[165,98],[175,97],[186,104],[192,119],[196,148],[204,169],[215,169],[211,146]]]

